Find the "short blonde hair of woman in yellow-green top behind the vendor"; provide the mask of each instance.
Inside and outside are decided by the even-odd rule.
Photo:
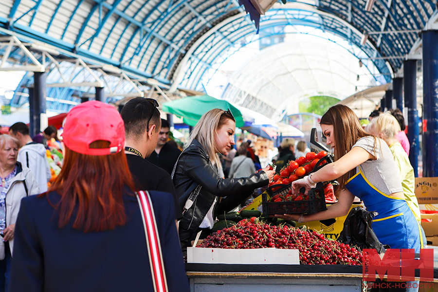
[[[393,143],[395,135],[401,131],[401,128],[397,119],[387,111],[373,118],[366,126],[365,130],[376,136],[379,136],[382,133],[383,140],[388,143]]]

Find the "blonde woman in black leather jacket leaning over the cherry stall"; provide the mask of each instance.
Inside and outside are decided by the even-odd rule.
[[[202,229],[211,229],[217,215],[228,212],[251,193],[273,180],[269,166],[247,178],[222,179],[218,153],[234,145],[236,120],[230,110],[213,109],[202,115],[178,159],[172,176],[183,219],[179,234],[184,248]]]

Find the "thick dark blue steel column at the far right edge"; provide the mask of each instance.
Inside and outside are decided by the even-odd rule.
[[[438,176],[438,30],[423,31],[423,177]]]

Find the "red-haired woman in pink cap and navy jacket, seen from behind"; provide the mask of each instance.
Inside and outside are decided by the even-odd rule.
[[[99,101],[75,106],[62,137],[64,167],[49,192],[21,201],[10,291],[143,292],[166,285],[188,292],[172,195],[149,191],[140,207],[117,110]],[[146,226],[157,244],[147,244]],[[154,280],[161,271],[163,280]]]

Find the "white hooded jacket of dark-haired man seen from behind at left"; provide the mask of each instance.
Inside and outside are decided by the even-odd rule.
[[[18,151],[17,161],[30,168],[37,180],[41,193],[47,191],[47,183],[52,178],[46,148],[42,144],[26,144]]]

